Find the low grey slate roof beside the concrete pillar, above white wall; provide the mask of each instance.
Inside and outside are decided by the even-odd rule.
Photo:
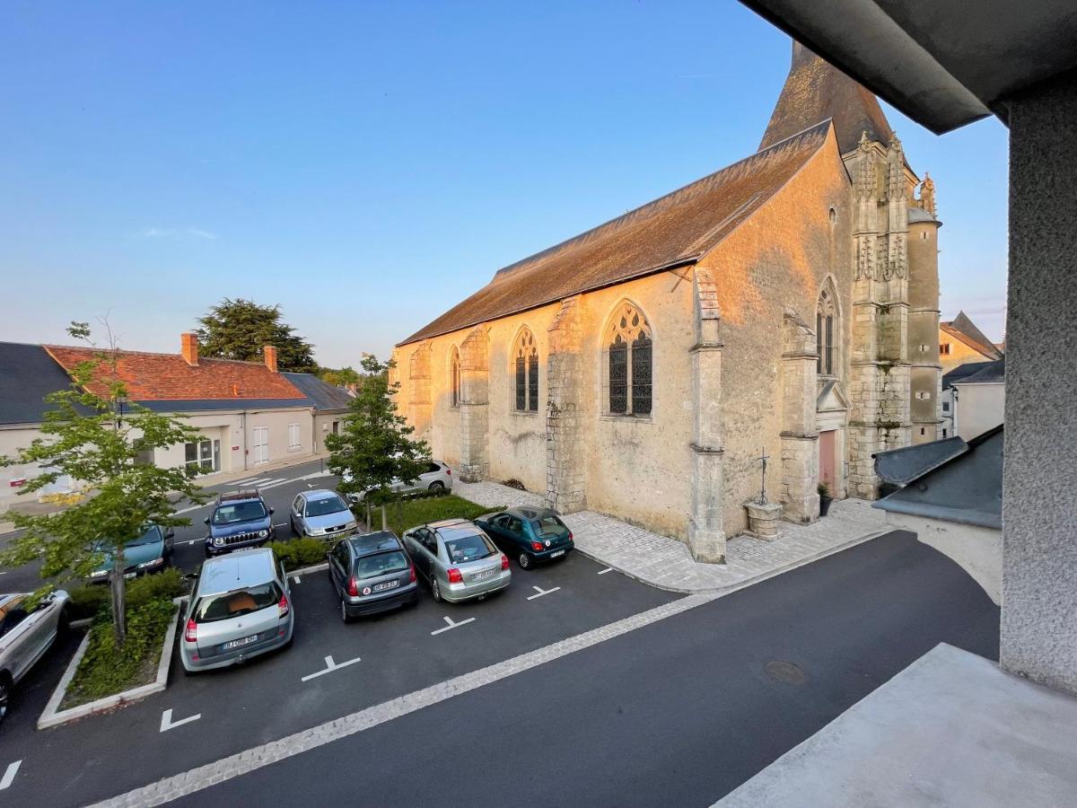
[[[965,451],[872,506],[1002,530],[1003,426],[974,437]]]

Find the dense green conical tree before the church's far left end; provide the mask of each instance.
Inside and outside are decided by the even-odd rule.
[[[363,358],[363,385],[348,404],[342,428],[339,434],[325,436],[331,452],[328,468],[342,478],[340,490],[365,492],[368,501],[379,502],[382,529],[387,525],[384,503],[393,498],[393,480],[412,483],[430,457],[425,442],[411,440],[415,427],[396,414],[393,396],[400,382],[389,384],[393,366],[392,360],[379,362],[370,354]]]

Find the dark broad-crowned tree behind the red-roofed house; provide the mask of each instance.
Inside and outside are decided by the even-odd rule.
[[[277,366],[289,373],[317,373],[313,346],[281,320],[280,306],[225,297],[198,318],[199,352],[209,358],[261,362],[263,348],[277,349]]]

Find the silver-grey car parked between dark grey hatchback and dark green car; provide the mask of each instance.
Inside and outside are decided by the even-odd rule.
[[[436,601],[458,603],[504,589],[513,580],[508,556],[466,519],[445,519],[404,533],[416,570]]]

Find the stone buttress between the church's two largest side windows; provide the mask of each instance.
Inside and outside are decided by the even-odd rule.
[[[583,326],[579,297],[561,302],[549,326],[546,367],[546,505],[563,514],[587,507],[584,492]]]

